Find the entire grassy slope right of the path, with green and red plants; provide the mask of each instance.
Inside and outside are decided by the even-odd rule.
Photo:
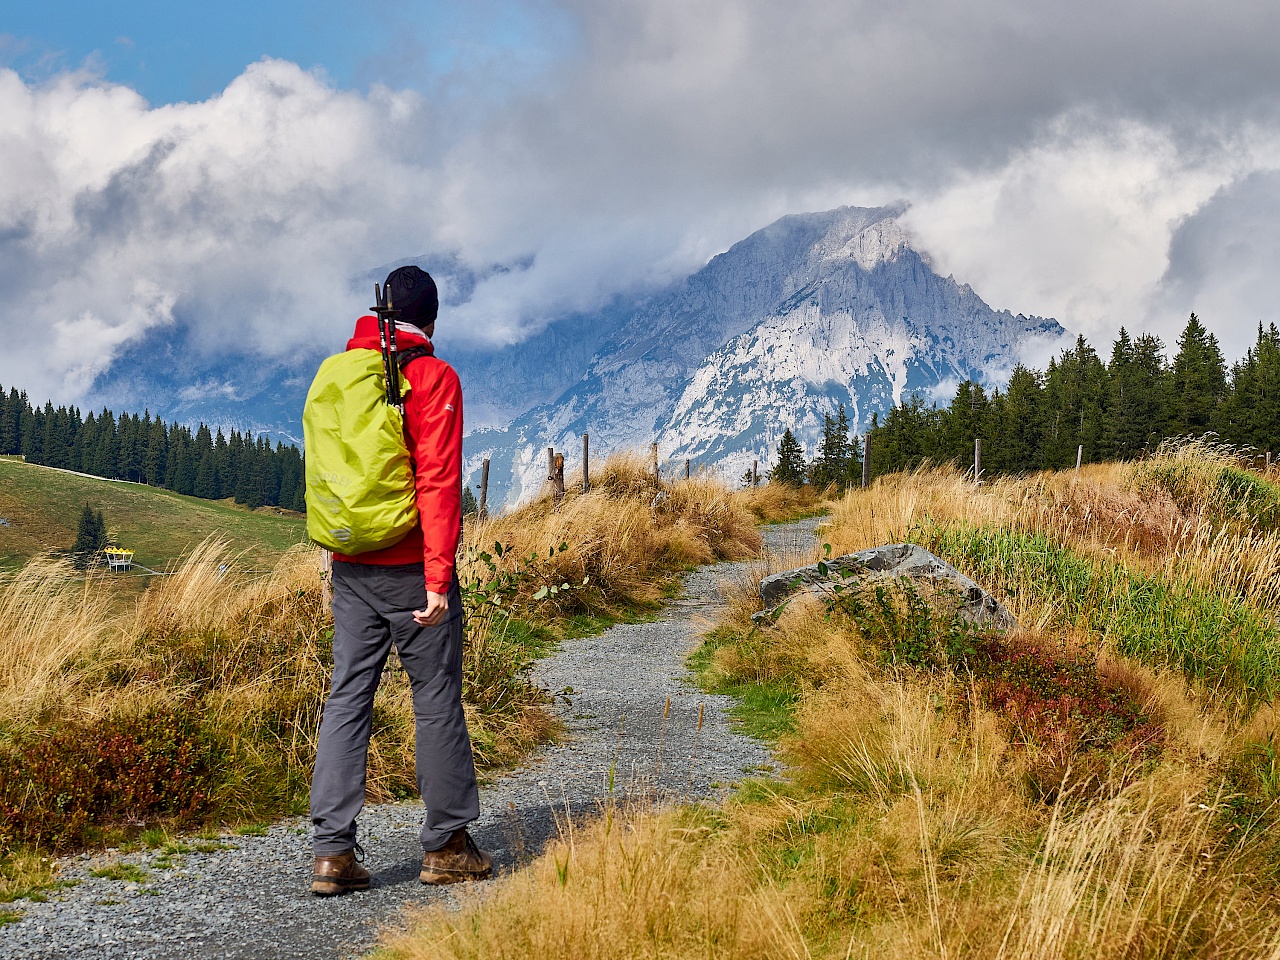
[[[884,582],[758,627],[742,584],[698,659],[786,778],[579,829],[380,956],[1280,956],[1277,495],[1207,444],[851,493],[836,552],[924,543],[1023,627]]]

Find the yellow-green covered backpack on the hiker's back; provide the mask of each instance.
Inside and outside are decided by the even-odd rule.
[[[307,535],[330,550],[379,550],[417,526],[404,416],[388,401],[388,369],[399,380],[393,396],[410,392],[399,367],[376,349],[348,349],[325,360],[307,390]]]

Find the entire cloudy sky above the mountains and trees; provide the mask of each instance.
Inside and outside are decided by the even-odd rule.
[[[189,8],[189,10],[188,10]],[[337,347],[355,279],[493,273],[516,340],[772,219],[911,202],[936,268],[1105,353],[1280,320],[1280,4],[0,0],[0,383],[128,342]]]

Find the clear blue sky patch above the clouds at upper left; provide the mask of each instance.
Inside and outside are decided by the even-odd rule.
[[[154,105],[214,96],[264,56],[323,68],[348,88],[435,88],[483,63],[509,82],[553,61],[570,36],[567,17],[518,0],[0,4],[0,65],[29,82],[87,68]]]

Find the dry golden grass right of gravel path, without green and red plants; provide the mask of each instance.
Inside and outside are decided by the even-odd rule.
[[[882,477],[835,507],[823,539],[844,553],[987,525],[1274,616],[1254,581],[1275,580],[1275,534],[1210,499],[1230,458],[1194,463],[1194,483],[1160,475],[1203,454],[980,488],[950,468]],[[758,566],[753,580],[772,572]],[[1019,584],[1018,612],[1053,621],[1048,586]],[[817,600],[751,628],[755,590],[731,584],[705,669],[797,691],[787,780],[718,812],[607,810],[461,910],[421,911],[380,956],[1280,959],[1275,705],[1219,704],[1103,645],[1098,677],[1158,728],[1158,749],[1084,742],[1094,773],[1073,778],[1068,754],[1068,788],[1046,804],[1030,785],[1055,745],[1014,737],[973,675],[886,667]],[[1032,627],[1007,643],[1094,637]]]

